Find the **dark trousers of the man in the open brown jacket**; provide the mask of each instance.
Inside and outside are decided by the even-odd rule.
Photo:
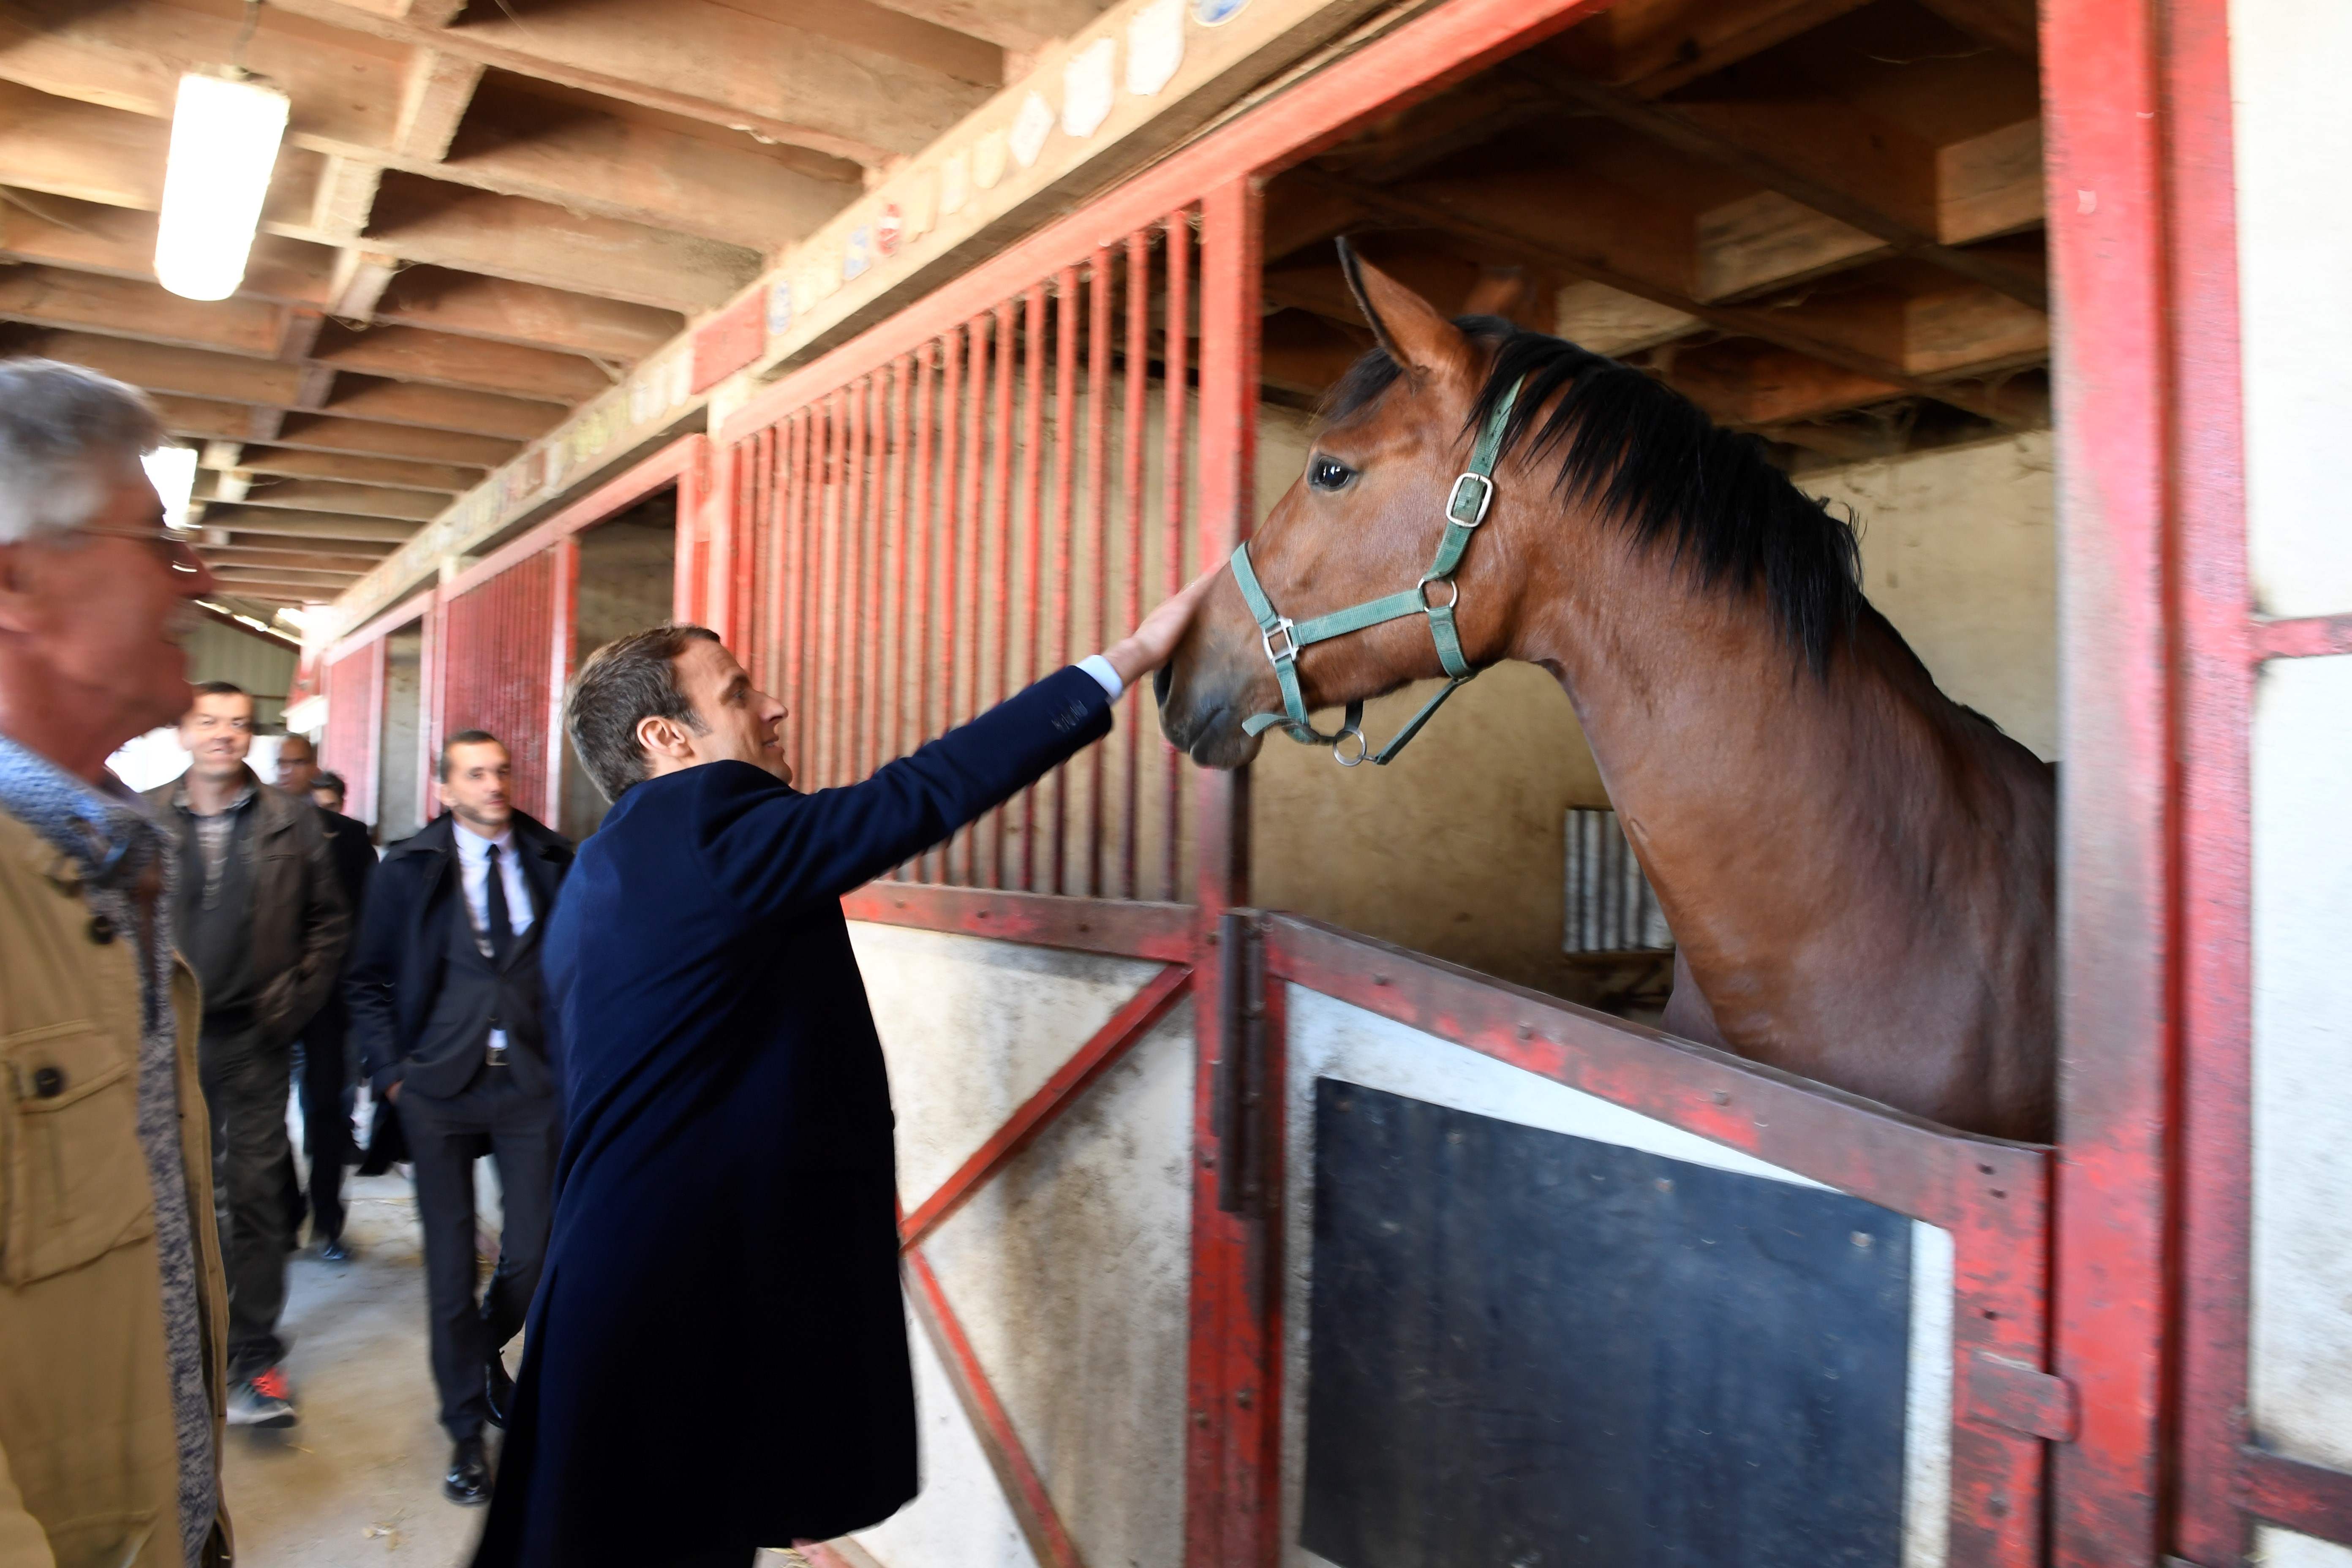
[[[287,1300],[282,1166],[287,1140],[287,1046],[268,1048],[254,1030],[212,1030],[198,1039],[198,1081],[212,1112],[212,1194],[228,1267],[228,1375],[278,1366],[278,1314]]]

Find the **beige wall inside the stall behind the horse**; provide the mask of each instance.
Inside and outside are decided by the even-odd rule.
[[[1265,409],[1258,515],[1305,468],[1308,421]],[[1809,473],[1860,520],[1863,583],[1938,684],[2042,757],[2058,748],[2049,433]],[[1371,703],[1392,736],[1437,689]],[[1557,682],[1498,665],[1385,769],[1338,769],[1279,733],[1251,766],[1251,898],[1581,997],[1559,959],[1566,809],[1606,806]]]

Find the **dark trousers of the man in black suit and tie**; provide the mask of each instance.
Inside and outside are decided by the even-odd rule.
[[[489,1415],[485,1363],[522,1331],[539,1265],[548,1255],[555,1152],[562,1147],[555,1095],[527,1095],[515,1088],[508,1067],[482,1067],[447,1100],[402,1088],[400,1128],[409,1140],[416,1218],[426,1232],[426,1302],[442,1427],[454,1439],[480,1436]],[[506,1220],[499,1269],[475,1302],[473,1161],[485,1140],[499,1161]]]

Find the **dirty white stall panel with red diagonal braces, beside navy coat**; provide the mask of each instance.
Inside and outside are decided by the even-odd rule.
[[[854,924],[920,1206],[1160,964]],[[1089,1563],[1183,1556],[1192,1020],[1178,1004],[924,1244]],[[1030,1568],[953,1385],[915,1338],[922,1495],[884,1568]]]

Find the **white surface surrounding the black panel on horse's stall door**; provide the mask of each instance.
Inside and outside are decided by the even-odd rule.
[[[1289,985],[1284,1154],[1282,1540],[1287,1568],[1334,1568],[1298,1542],[1305,1474],[1308,1333],[1315,1258],[1315,1079],[1449,1105],[1519,1126],[1684,1159],[1797,1187],[1820,1182],[1665,1121],[1552,1084],[1435,1034]],[[1903,1436],[1903,1568],[1943,1568],[1952,1490],[1952,1237],[1912,1222],[1910,1408]]]

